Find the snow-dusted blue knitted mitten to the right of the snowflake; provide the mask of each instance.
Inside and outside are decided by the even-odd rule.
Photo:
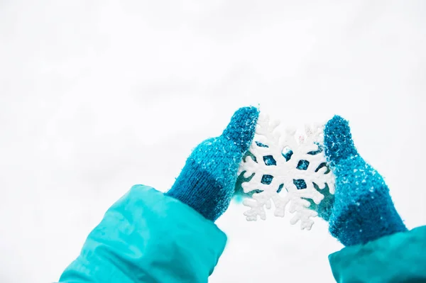
[[[342,117],[334,116],[325,126],[324,150],[336,177],[329,213],[329,231],[335,238],[349,246],[407,231],[383,177],[356,151]]]

